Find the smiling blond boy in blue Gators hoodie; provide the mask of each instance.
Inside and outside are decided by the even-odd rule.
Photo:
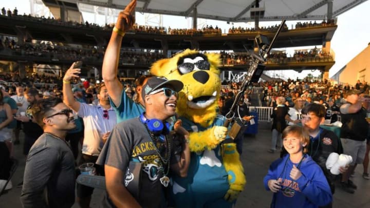
[[[270,165],[264,178],[266,190],[272,191],[271,207],[319,207],[332,201],[324,173],[306,155],[309,135],[301,126],[283,131],[283,145],[288,154]]]

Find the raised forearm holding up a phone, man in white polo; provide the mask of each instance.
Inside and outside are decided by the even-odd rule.
[[[80,110],[80,102],[76,101],[75,97],[73,96],[72,88],[70,85],[70,81],[73,78],[79,78],[79,74],[81,73],[81,69],[73,68],[75,67],[75,63],[70,66],[70,68],[66,71],[63,77],[63,100],[64,103],[72,108],[72,110],[78,112]]]

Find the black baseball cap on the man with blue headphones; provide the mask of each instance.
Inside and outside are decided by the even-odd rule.
[[[146,83],[143,85],[141,89],[141,98],[145,100],[145,96],[150,94],[151,92],[163,87],[169,86],[176,92],[180,91],[183,87],[183,84],[179,80],[168,80],[164,77],[151,77],[148,78]]]

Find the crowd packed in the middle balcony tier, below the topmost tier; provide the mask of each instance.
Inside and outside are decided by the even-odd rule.
[[[53,45],[50,42],[25,43],[18,45],[16,38],[5,37],[4,41],[0,39],[0,51],[11,50],[13,55],[35,56],[40,58],[49,58],[54,60],[83,60],[88,62],[102,62],[104,48],[95,46],[69,47]],[[248,52],[220,52],[222,65],[247,65],[251,61],[251,55]],[[144,52],[141,49],[122,49],[121,64],[151,65],[154,61],[164,58],[164,55],[158,51]],[[291,62],[323,62],[332,61],[329,53],[323,52],[316,47],[310,50],[297,50],[291,57],[287,57],[285,51],[272,51],[268,56],[267,64],[280,64]]]

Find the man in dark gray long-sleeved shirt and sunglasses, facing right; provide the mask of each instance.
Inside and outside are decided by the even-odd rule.
[[[65,136],[76,127],[72,110],[60,98],[39,100],[30,110],[44,134],[27,156],[21,193],[23,207],[71,207],[75,203],[75,159]]]

